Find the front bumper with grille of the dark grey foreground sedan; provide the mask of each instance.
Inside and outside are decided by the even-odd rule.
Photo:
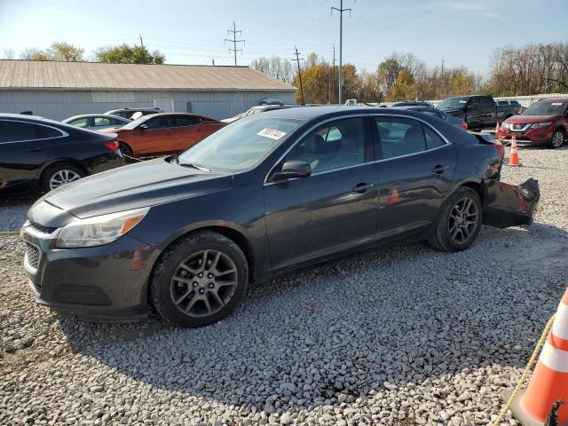
[[[59,230],[50,231],[28,225],[21,232],[38,304],[92,320],[147,316],[147,282],[159,250],[128,235],[99,247],[55,248]]]

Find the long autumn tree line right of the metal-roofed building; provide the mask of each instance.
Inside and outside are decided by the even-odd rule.
[[[300,87],[297,70],[288,59],[274,56],[254,60],[251,67]],[[296,101],[336,103],[339,67],[311,53],[301,66],[302,93]],[[467,94],[521,96],[568,90],[568,43],[529,44],[493,52],[489,75],[467,67],[429,67],[413,53],[393,52],[374,72],[343,65],[343,103],[346,99],[383,102],[411,99],[444,99]]]

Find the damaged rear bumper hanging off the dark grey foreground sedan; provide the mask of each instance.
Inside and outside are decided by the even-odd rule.
[[[539,201],[536,179],[530,178],[521,185],[489,181],[485,187],[483,223],[497,228],[531,225]]]

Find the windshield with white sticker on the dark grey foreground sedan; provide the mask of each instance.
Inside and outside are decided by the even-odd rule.
[[[177,162],[210,170],[247,170],[302,124],[299,120],[270,118],[264,114],[244,117],[179,154]]]

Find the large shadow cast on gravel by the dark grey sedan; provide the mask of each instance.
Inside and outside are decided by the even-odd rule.
[[[210,327],[73,318],[60,327],[108,375],[268,413],[336,405],[495,364],[524,367],[562,294],[566,241],[551,225],[484,227],[465,252],[375,249],[257,284]],[[443,389],[434,398],[454,391]]]

